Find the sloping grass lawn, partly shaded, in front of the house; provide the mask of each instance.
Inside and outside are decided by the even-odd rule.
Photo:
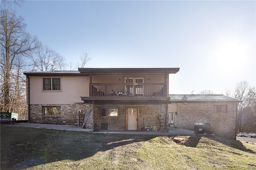
[[[1,125],[1,170],[255,169],[256,145],[215,136],[92,134]]]

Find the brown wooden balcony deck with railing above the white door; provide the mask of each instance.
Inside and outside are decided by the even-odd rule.
[[[166,101],[170,100],[164,83],[90,83],[84,101]]]

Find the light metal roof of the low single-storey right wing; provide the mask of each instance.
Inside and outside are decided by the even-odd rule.
[[[223,94],[170,94],[169,96],[171,102],[242,102]]]

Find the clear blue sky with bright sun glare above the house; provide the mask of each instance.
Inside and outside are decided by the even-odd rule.
[[[179,67],[170,94],[256,85],[256,1],[25,1],[27,30],[88,68]]]

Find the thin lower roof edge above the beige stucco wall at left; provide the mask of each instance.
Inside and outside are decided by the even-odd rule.
[[[89,74],[81,74],[79,71],[36,71],[24,72],[26,76],[88,76]]]

